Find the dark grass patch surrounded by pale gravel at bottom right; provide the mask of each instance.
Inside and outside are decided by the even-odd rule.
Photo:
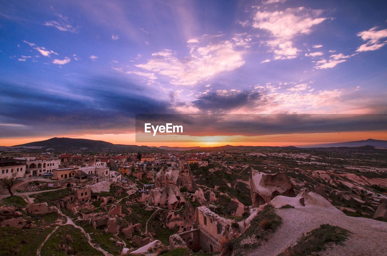
[[[298,239],[297,244],[288,247],[278,256],[308,256],[326,249],[328,243],[342,244],[349,237],[350,232],[346,229],[329,224],[320,225],[306,235]]]

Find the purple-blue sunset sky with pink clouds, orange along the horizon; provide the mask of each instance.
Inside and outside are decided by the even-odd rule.
[[[0,1],[0,145],[254,136],[136,143],[135,114],[387,114],[386,44],[385,1]],[[313,123],[271,135],[325,141]],[[330,141],[386,140],[383,125]]]

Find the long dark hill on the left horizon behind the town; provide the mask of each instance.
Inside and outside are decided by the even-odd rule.
[[[164,152],[157,147],[122,145],[104,142],[102,140],[87,140],[74,138],[51,138],[38,142],[30,142],[12,147],[2,147],[4,151],[26,152]]]

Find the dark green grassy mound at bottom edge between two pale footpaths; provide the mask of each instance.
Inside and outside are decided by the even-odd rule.
[[[41,249],[41,256],[65,255],[101,255],[87,242],[86,237],[79,229],[72,225],[59,227],[45,242]]]

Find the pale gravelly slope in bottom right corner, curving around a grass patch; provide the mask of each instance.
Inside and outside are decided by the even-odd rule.
[[[321,224],[330,224],[348,229],[353,234],[344,246],[335,246],[319,253],[324,256],[387,256],[387,223],[368,218],[349,217],[325,208],[305,207],[277,209],[283,225],[251,256],[277,256],[296,240]]]

